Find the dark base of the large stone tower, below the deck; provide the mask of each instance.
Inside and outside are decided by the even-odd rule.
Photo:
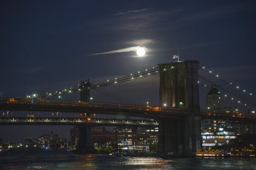
[[[159,121],[159,153],[192,156],[201,149],[201,116]]]

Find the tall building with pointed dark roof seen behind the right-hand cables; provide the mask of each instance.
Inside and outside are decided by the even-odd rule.
[[[207,109],[211,111],[221,111],[221,94],[215,85],[207,94]]]

